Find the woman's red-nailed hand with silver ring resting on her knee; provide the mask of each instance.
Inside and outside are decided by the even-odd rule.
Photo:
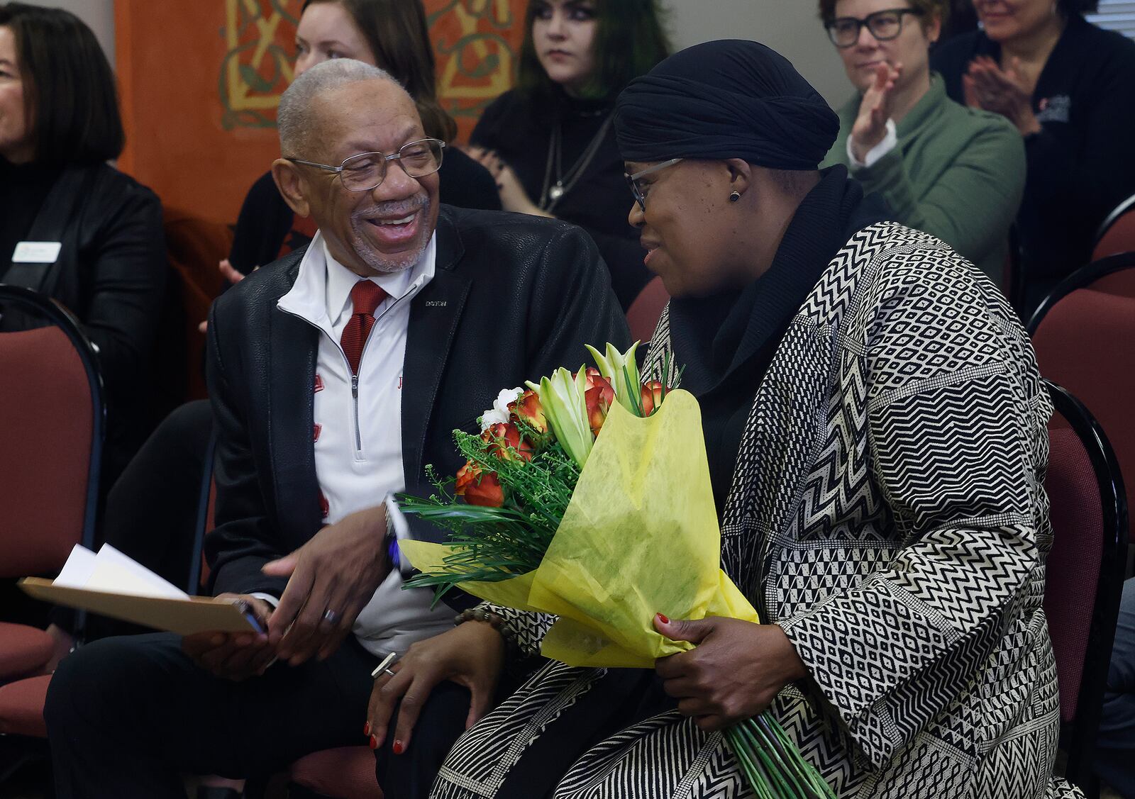
[[[476,621],[412,645],[393,666],[394,676],[382,674],[375,681],[367,706],[371,748],[377,749],[386,739],[394,706],[401,698],[392,748],[395,755],[404,752],[426,699],[443,680],[464,686],[472,695],[465,717],[465,729],[471,727],[489,712],[504,651],[501,633],[491,624]]]

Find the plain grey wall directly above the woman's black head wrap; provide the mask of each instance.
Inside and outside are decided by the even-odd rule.
[[[663,0],[674,45],[753,39],[781,53],[829,103],[851,95],[840,57],[819,24],[816,0]]]

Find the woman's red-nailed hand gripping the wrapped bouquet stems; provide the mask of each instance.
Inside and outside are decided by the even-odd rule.
[[[739,619],[663,621],[654,626],[674,641],[697,647],[655,661],[663,690],[678,710],[706,732],[723,730],[763,712],[776,693],[807,674],[792,642],[775,624]]]

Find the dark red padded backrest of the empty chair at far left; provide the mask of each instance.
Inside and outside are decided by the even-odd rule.
[[[61,305],[0,285],[0,577],[49,574],[94,538],[102,380]]]

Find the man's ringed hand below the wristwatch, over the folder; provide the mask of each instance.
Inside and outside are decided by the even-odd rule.
[[[330,657],[389,572],[386,506],[325,527],[262,571],[291,578],[268,620],[268,638],[279,657],[293,666],[312,656]]]

